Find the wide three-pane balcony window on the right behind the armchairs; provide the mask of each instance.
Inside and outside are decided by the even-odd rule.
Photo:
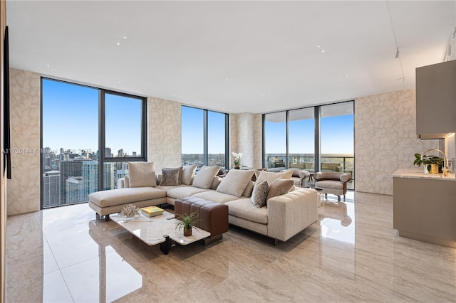
[[[342,171],[354,188],[353,101],[264,115],[264,166]]]

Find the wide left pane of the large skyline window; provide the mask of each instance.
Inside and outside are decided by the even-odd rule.
[[[98,160],[98,90],[43,78],[42,91],[42,206],[88,201],[98,191],[98,176],[83,179],[83,164]]]

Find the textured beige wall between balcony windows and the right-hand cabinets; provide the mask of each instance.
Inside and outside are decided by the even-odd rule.
[[[394,171],[416,168],[415,153],[438,148],[438,140],[417,139],[415,129],[415,90],[355,100],[356,191],[392,195]]]

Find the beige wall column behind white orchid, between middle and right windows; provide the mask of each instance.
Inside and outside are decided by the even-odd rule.
[[[261,114],[229,115],[230,167],[232,151],[242,152],[241,164],[258,169],[262,166],[262,122]]]

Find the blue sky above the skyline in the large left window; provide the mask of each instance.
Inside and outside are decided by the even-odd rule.
[[[105,104],[106,147],[140,154],[140,100],[106,95]],[[97,89],[43,79],[43,147],[98,150]]]

